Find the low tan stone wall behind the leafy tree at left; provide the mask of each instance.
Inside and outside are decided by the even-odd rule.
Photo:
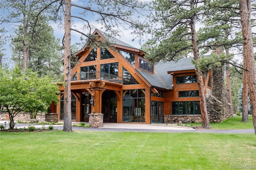
[[[30,121],[29,113],[18,113],[14,117],[14,121]],[[0,113],[0,121],[10,121],[10,117],[8,113]],[[38,122],[44,122],[45,121],[45,115],[44,113],[38,113],[36,115],[36,121]]]

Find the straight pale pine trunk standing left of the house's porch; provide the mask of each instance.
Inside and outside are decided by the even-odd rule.
[[[71,0],[65,1],[64,33],[64,125],[63,130],[72,132],[71,118],[71,76],[70,76],[70,39],[71,39]]]

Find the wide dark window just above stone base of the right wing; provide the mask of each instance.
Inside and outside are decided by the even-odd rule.
[[[201,115],[199,101],[172,102],[172,115]]]

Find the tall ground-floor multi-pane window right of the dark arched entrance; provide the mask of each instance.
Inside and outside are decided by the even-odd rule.
[[[123,90],[123,122],[145,122],[145,89]]]

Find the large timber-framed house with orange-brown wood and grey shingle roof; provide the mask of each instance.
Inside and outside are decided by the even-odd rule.
[[[202,120],[191,57],[151,66],[144,59],[144,51],[100,30],[93,34],[113,45],[107,49],[85,46],[76,54],[79,60],[71,71],[72,121],[102,127],[103,122],[150,124]],[[209,94],[211,75],[209,72],[204,78]],[[63,92],[62,86],[60,91]],[[52,112],[58,113],[58,120],[62,121],[63,93],[59,97],[60,102],[56,107],[52,105]],[[211,114],[222,117],[222,110]]]

